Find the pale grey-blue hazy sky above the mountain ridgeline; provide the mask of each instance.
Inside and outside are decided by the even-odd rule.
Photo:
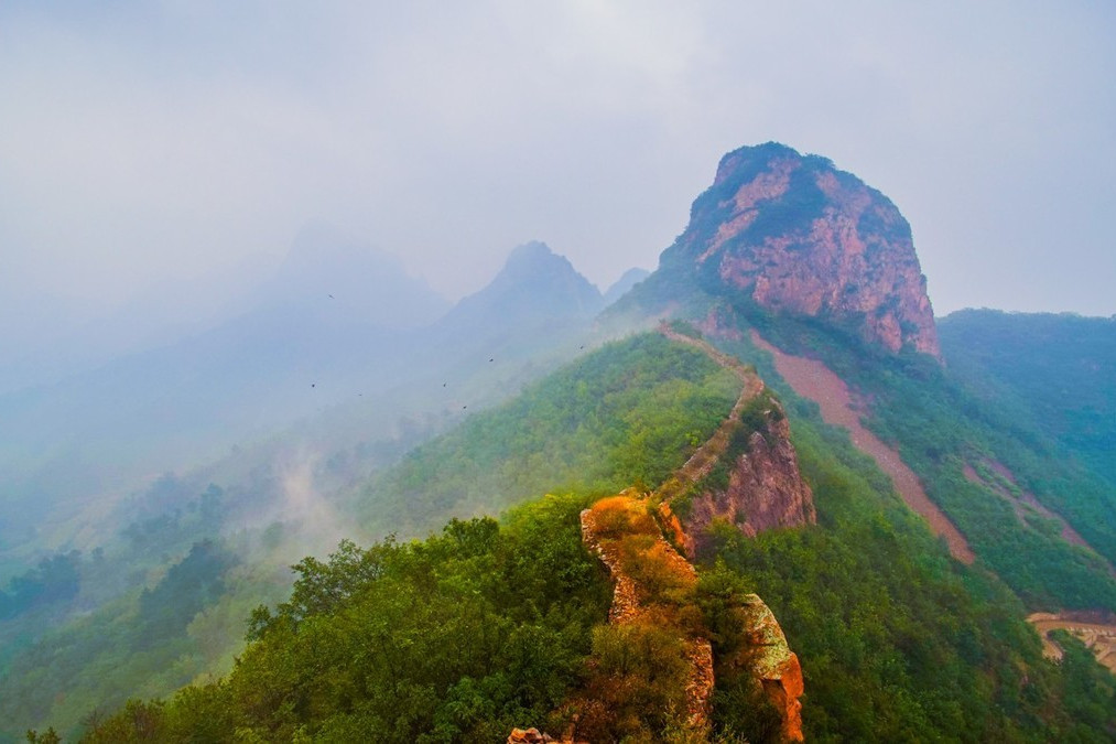
[[[778,140],[895,201],[939,314],[1110,315],[1114,38],[1106,0],[7,0],[0,312],[248,283],[310,220],[451,298],[536,238],[604,288]]]

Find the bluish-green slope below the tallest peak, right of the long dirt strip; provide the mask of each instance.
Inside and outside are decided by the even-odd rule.
[[[816,319],[739,309],[744,330],[754,324],[777,346],[820,357],[870,401],[866,426],[898,449],[931,499],[1029,609],[1116,609],[1116,580],[1104,561],[1116,562],[1116,489],[1069,456],[1018,401],[981,393],[978,382],[993,381],[954,374],[923,354],[888,354]],[[781,395],[790,393],[766,354],[747,341],[730,346],[756,360]],[[1002,496],[966,480],[964,466],[985,460],[1008,467],[1021,488],[1065,517],[1097,553],[1067,543],[1047,525],[1019,519]]]

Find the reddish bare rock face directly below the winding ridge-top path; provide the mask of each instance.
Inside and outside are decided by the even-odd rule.
[[[790,427],[771,401],[764,423],[748,436],[748,451],[732,464],[728,488],[694,497],[685,518],[686,550],[701,550],[708,528],[723,519],[748,536],[764,530],[815,524],[814,494],[798,469]]]

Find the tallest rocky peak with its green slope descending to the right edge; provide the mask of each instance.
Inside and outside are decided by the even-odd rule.
[[[781,293],[806,304],[782,302]],[[789,388],[750,333],[820,361],[960,531],[959,550],[968,542],[1032,610],[1112,609],[1110,487],[1066,461],[1032,417],[990,404],[941,368],[929,308],[910,228],[894,206],[829,161],[770,143],[722,159],[656,273],[606,316],[690,318],[745,361],[762,361],[780,393]],[[885,333],[892,321],[901,336]],[[989,468],[1002,470],[1004,485],[972,477]],[[1012,489],[1019,496],[1004,498]],[[1057,518],[1020,506],[1027,498],[1093,550],[1064,538]]]

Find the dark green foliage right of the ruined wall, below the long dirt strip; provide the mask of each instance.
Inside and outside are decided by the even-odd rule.
[[[819,526],[754,540],[720,532],[723,563],[702,586],[713,600],[718,583],[722,598],[747,588],[772,609],[802,661],[807,737],[1054,741],[1074,729],[1069,674],[1041,658],[1018,600],[994,578],[951,561],[886,481],[817,419],[798,419],[793,429]],[[704,604],[723,654],[739,641],[716,620],[713,600]],[[762,718],[741,719],[725,705],[752,695],[747,680],[733,681],[718,683],[719,724],[764,741],[756,733]],[[1113,709],[1083,741],[1105,740]]]

